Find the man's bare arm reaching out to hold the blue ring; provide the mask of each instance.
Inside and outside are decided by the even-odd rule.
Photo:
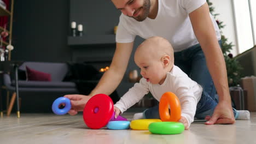
[[[78,111],[83,111],[87,101],[95,94],[104,93],[111,94],[123,79],[124,73],[129,62],[133,48],[132,43],[117,43],[117,48],[110,64],[109,69],[103,74],[100,82],[94,90],[86,97],[80,94],[68,94],[64,97],[71,100],[71,110],[68,112],[70,115],[76,115]]]

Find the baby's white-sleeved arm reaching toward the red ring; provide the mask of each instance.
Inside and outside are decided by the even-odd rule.
[[[119,114],[123,113],[141,100],[148,92],[148,83],[144,78],[142,78],[139,83],[135,83],[135,85],[130,88],[114,106],[120,110]],[[115,114],[115,116],[118,116],[117,112]]]

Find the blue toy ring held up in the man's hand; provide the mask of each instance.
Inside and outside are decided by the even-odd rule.
[[[59,108],[60,104],[65,104],[65,107],[63,109]],[[65,115],[70,109],[71,109],[71,103],[68,98],[60,97],[54,100],[53,105],[51,106],[51,109],[53,109],[53,112],[56,115]]]

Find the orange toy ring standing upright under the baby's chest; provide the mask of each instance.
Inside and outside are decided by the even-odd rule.
[[[169,105],[171,114],[169,113]],[[181,104],[179,99],[172,92],[166,92],[162,95],[159,102],[159,114],[163,122],[178,122],[181,118]]]

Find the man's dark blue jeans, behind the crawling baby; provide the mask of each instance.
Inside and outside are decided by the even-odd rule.
[[[221,44],[222,42],[219,40],[219,45],[221,46]],[[183,51],[174,52],[174,64],[181,68],[184,73],[190,77],[190,79],[196,81],[203,87],[201,97],[203,100],[200,99],[199,103],[197,104],[196,116],[202,118],[199,114],[205,112],[206,110],[209,110],[206,112],[206,114],[210,114],[209,116],[211,116],[214,108],[217,105],[218,98],[216,98],[216,88],[214,87],[212,77],[207,68],[205,55],[200,44],[191,46]],[[208,103],[211,104],[211,107],[207,107]],[[146,118],[159,118],[158,109],[159,105],[151,107],[144,111],[144,116]]]

